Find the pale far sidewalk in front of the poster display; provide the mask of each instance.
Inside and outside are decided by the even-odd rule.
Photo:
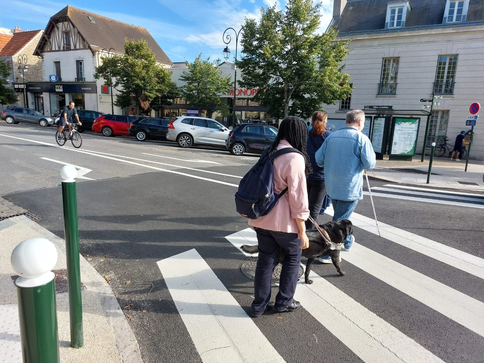
[[[412,161],[377,160],[377,166],[368,172],[368,176],[421,187],[484,192],[484,161],[469,160],[466,172],[465,160],[451,161],[449,158],[434,157],[430,183],[427,184],[429,158],[425,156],[423,163],[420,161],[421,155],[415,155]]]

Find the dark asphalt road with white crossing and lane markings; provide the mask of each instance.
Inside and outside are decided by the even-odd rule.
[[[475,208],[483,196],[471,197],[477,199],[469,202],[474,206],[452,202],[465,197],[455,192],[449,198],[422,192],[426,201],[374,197],[384,237],[365,227],[373,218],[365,196],[353,216],[355,250],[341,252],[346,276],[315,262],[312,271],[320,278],[311,287],[323,292],[301,309],[237,320],[237,311],[249,311],[253,281],[241,273],[247,257],[226,237],[248,227],[235,212],[233,195],[257,156],[89,133],[82,134],[76,151],[58,147],[54,132],[0,122],[0,195],[39,215],[38,223],[63,237],[61,163],[78,166],[92,179],[78,179],[77,185],[81,253],[109,276],[145,363],[212,362],[207,354],[213,350],[200,351],[212,344],[206,340],[224,341],[211,336],[217,331],[210,325],[212,313],[240,324],[237,330],[248,340],[239,350],[248,345],[257,351],[260,340],[250,340],[255,329],[286,362],[484,362],[484,213]],[[391,188],[388,182],[371,184]],[[435,203],[439,198],[448,204]],[[326,214],[319,218],[331,220]],[[218,313],[228,311],[225,305],[210,302],[206,310],[206,304],[195,302],[197,294],[210,290],[203,285],[210,274],[197,280],[194,273],[201,285],[193,289],[173,288],[185,259],[175,258],[169,276],[161,273],[158,261],[192,249],[200,258],[190,257],[185,267],[206,263],[197,273],[213,272],[223,285],[220,296],[234,300],[231,313]],[[307,291],[301,285],[297,294],[304,297]],[[181,295],[174,299],[174,294]],[[226,329],[223,319],[217,321]]]

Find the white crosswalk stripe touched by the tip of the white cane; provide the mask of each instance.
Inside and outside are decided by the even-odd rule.
[[[326,214],[333,216],[333,207],[328,207]],[[350,218],[354,227],[364,229],[378,235],[375,220],[353,212]],[[398,243],[425,256],[432,257],[456,269],[468,272],[484,279],[484,259],[460,251],[445,244],[429,240],[428,238],[408,232],[406,230],[378,222],[381,237]]]

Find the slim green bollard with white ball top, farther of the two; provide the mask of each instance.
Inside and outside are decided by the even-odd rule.
[[[69,318],[71,347],[84,345],[82,328],[81,270],[79,262],[79,228],[77,224],[76,178],[72,165],[61,168],[62,203],[64,206],[65,254],[67,257],[67,287],[69,290]]]

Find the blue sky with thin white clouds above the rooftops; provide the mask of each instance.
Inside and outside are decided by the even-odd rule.
[[[333,0],[321,0],[324,31],[333,12]],[[148,29],[171,61],[203,58],[223,59],[222,34],[227,27],[240,29],[244,17],[258,18],[261,6],[274,0],[5,0],[0,27],[25,30],[45,29],[50,16],[67,5]],[[286,1],[277,1],[284,7]],[[234,41],[229,45],[235,49]],[[231,57],[233,57],[233,53]]]

